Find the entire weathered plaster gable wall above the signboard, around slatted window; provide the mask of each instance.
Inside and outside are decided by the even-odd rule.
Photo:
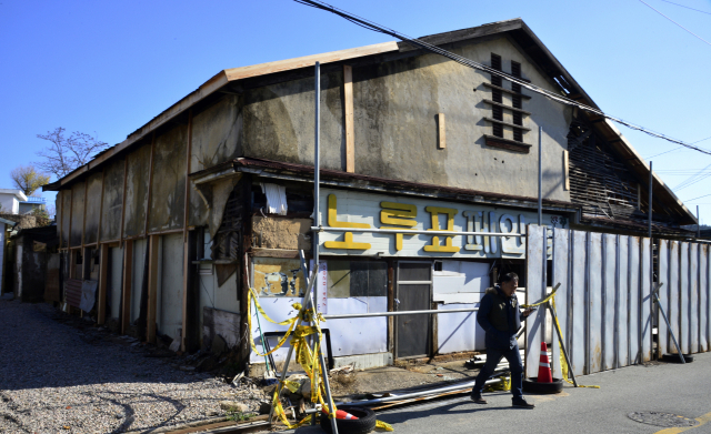
[[[503,71],[521,63],[522,75],[557,91],[507,37],[462,44],[451,51],[489,64],[502,57]],[[569,200],[562,186],[562,151],[567,149],[572,110],[541,95],[523,100],[524,142],[530,153],[484,144],[492,128],[490,75],[424,54],[353,69],[356,172],[407,181],[535,196],[538,125],[543,127],[543,194]],[[342,169],[342,74],[322,77],[322,166]],[[504,82],[510,89],[511,84]],[[511,105],[510,95],[503,103]],[[444,113],[447,148],[438,149],[437,114]],[[504,121],[512,122],[504,110]],[[512,130],[504,127],[504,138]],[[250,90],[244,94],[244,154],[303,164],[313,163],[313,79]]]

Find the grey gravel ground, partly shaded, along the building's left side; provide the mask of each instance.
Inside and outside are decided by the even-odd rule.
[[[0,433],[154,432],[222,416],[222,400],[259,406],[259,390],[179,371],[56,315],[48,304],[0,300]]]

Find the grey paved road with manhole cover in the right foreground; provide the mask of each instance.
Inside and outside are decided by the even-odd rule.
[[[527,395],[534,410],[512,408],[510,393],[489,393],[484,394],[488,405],[459,397],[382,412],[378,418],[390,423],[395,433],[408,434],[711,433],[711,353],[697,354],[685,365],[630,366],[578,380],[601,388],[565,386],[558,395]],[[645,411],[698,418],[699,425],[664,431],[628,417]],[[296,433],[322,431],[302,427]]]

